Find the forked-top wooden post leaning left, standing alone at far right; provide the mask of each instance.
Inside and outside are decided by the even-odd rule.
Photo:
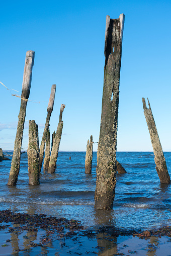
[[[148,100],[148,98],[147,98]],[[142,98],[145,119],[148,125],[148,130],[151,138],[151,143],[154,151],[154,161],[156,164],[156,171],[161,183],[170,183],[170,177],[167,171],[167,166],[162,151],[161,143],[158,137],[157,128],[152,115],[151,107],[148,101],[149,109],[146,107],[145,99]]]

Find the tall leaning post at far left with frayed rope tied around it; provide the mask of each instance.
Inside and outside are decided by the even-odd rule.
[[[26,117],[26,106],[27,101],[30,95],[30,87],[32,81],[32,69],[34,64],[34,51],[26,52],[26,60],[24,66],[24,75],[23,75],[23,86],[22,86],[22,95],[21,95],[21,106],[19,113],[19,121],[17,126],[16,140],[14,144],[13,159],[11,163],[11,170],[8,185],[15,186],[17,184],[18,175],[20,171],[20,159],[21,159],[21,147],[23,139],[23,129],[24,122]]]

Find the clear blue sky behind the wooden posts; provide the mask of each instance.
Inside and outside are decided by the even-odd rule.
[[[117,150],[152,151],[141,100],[148,97],[163,151],[171,151],[170,7],[170,0],[1,2],[0,81],[17,94],[26,51],[35,51],[22,147],[28,120],[38,124],[41,142],[54,83],[51,134],[66,104],[59,149],[86,150],[91,134],[99,140],[106,15],[124,13]],[[21,100],[2,84],[0,90],[0,147],[13,150]]]

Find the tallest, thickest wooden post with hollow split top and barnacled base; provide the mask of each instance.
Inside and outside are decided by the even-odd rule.
[[[106,17],[104,88],[95,191],[95,208],[102,210],[112,209],[115,197],[119,79],[124,17],[124,14],[121,14],[119,19]]]

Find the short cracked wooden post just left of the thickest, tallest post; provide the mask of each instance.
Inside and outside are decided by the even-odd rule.
[[[88,139],[87,151],[85,155],[85,174],[92,173],[92,158],[93,158],[93,136],[90,137],[90,142]]]

